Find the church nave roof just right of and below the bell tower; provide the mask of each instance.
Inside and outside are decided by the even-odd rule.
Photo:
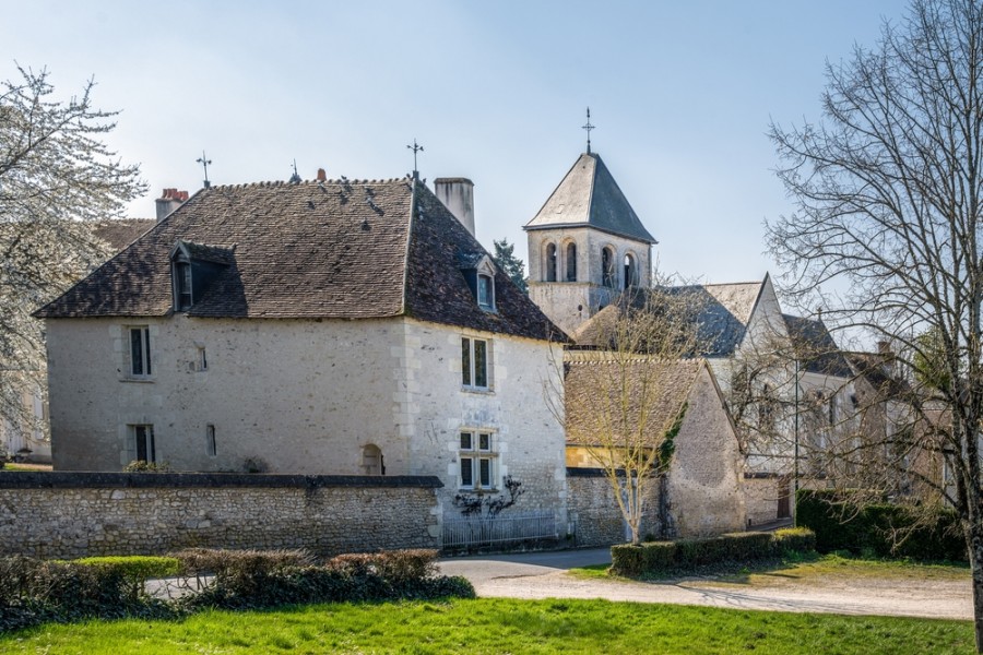
[[[767,277],[766,277],[767,279]],[[757,306],[765,281],[741,284],[704,284],[663,287],[646,295],[632,290],[631,305],[640,308],[648,302],[655,308],[661,294],[684,297],[682,305],[694,312],[697,322],[697,343],[704,357],[726,357],[744,340],[747,324]],[[601,335],[609,333],[606,325],[620,313],[624,298],[604,308],[575,333],[578,345],[602,346]]]

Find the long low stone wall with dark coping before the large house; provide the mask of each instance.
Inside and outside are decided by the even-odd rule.
[[[431,476],[0,473],[0,552],[439,548]]]

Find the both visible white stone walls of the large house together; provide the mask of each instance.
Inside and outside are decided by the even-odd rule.
[[[126,330],[143,324],[153,376],[130,380]],[[465,335],[490,344],[487,391],[462,385]],[[508,511],[550,508],[566,520],[564,433],[543,396],[544,380],[557,374],[546,342],[411,319],[176,314],[48,321],[48,349],[61,471],[119,471],[135,458],[129,426],[142,424],[154,427],[156,460],[176,471],[242,471],[260,458],[270,472],[358,475],[374,444],[388,475],[438,476],[437,511],[457,515],[460,431],[469,428],[493,434],[496,479],[522,483]]]

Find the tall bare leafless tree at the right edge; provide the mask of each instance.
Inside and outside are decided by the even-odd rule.
[[[786,290],[815,302],[827,285],[827,317],[891,343],[914,372],[912,429],[893,445],[952,472],[937,490],[961,516],[983,651],[983,3],[915,0],[873,49],[828,67],[822,109],[819,123],[771,127],[797,209],[768,225],[770,250]],[[904,460],[869,454],[849,456]]]

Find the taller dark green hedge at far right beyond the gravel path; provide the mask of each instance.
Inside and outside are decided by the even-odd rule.
[[[881,558],[968,559],[959,516],[948,508],[888,503],[860,508],[832,489],[798,492],[798,524],[816,533],[816,550],[873,552]]]

